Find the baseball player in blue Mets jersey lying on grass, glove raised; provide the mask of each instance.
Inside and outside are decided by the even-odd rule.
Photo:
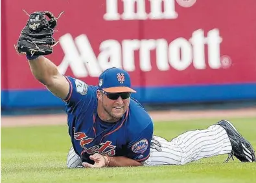
[[[45,16],[49,16],[47,21]],[[119,167],[186,164],[214,155],[255,161],[251,144],[233,125],[221,120],[205,130],[183,133],[170,142],[153,135],[149,114],[131,93],[128,72],[112,67],[96,86],[58,72],[44,55],[52,53],[56,18],[34,12],[23,28],[16,50],[29,60],[34,77],[65,102],[72,147],[68,167]]]

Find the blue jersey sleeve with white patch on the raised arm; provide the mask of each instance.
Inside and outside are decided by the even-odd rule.
[[[97,87],[87,85],[84,81],[65,76],[69,81],[69,93],[65,98],[67,110],[74,109],[78,105],[86,109],[95,100]]]

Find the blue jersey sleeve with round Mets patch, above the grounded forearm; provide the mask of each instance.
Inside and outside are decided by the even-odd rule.
[[[129,142],[127,147],[128,158],[143,162],[149,157],[153,130],[153,123],[150,123],[141,133],[138,133],[138,136],[135,136],[133,140]]]

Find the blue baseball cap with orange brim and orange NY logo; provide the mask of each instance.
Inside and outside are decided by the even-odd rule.
[[[131,80],[124,69],[111,67],[99,76],[99,90],[106,92],[136,92],[131,88]]]

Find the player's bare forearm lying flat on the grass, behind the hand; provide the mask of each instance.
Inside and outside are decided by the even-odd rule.
[[[140,162],[126,158],[125,156],[108,156],[108,167],[143,166]]]

